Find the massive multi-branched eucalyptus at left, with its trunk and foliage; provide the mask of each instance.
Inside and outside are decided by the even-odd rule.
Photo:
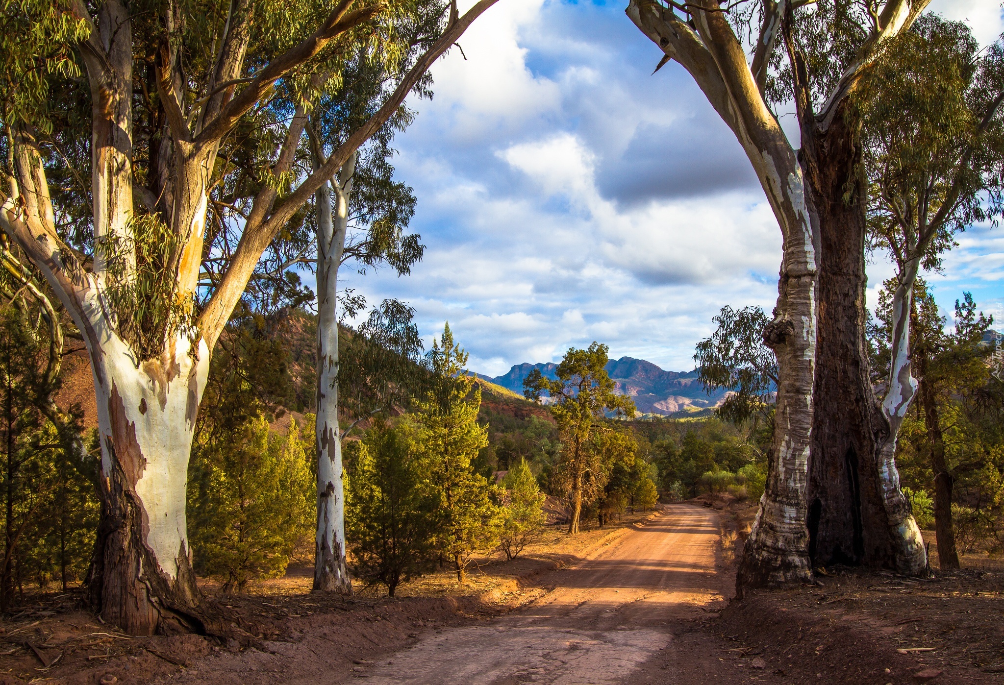
[[[494,2],[449,22],[444,12],[442,34],[381,108],[300,178],[293,163],[312,107],[360,45],[378,61],[401,57],[396,20],[409,3],[4,6],[0,228],[44,275],[89,353],[102,522],[88,592],[104,620],[137,634],[164,623],[231,630],[200,607],[185,521],[213,347],[263,252]],[[50,173],[74,161],[75,174],[62,176],[77,187],[53,187]],[[245,195],[230,209],[234,180]],[[214,232],[234,226],[233,252],[215,254]],[[216,259],[226,268],[204,289],[203,266]]]

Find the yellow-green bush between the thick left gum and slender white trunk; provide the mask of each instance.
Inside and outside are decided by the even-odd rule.
[[[197,573],[240,592],[281,575],[312,538],[313,416],[283,437],[267,414],[291,395],[274,322],[241,308],[213,356],[189,463],[188,521]],[[310,545],[312,548],[312,544]]]

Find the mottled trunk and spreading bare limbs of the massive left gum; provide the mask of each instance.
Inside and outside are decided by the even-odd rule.
[[[248,51],[253,19],[263,10],[251,0],[233,0],[226,24],[205,29],[222,30],[203,36],[213,49],[212,63],[200,81],[191,71],[183,73],[179,45],[183,32],[195,29],[173,3],[157,10],[155,19],[131,11],[120,0],[108,0],[93,15],[80,0],[70,4],[69,14],[80,30],[65,40],[82,58],[92,105],[92,265],[88,268],[57,230],[45,174],[46,148],[34,134],[34,121],[22,116],[28,109],[3,113],[13,164],[4,175],[0,228],[47,279],[90,357],[102,454],[102,517],[88,592],[105,621],[135,634],[169,626],[232,632],[229,622],[200,609],[185,520],[189,453],[211,351],[279,231],[494,2],[481,0],[452,21],[384,106],[279,204],[307,109],[326,85],[315,76],[298,86],[298,70],[309,73],[311,65],[323,60],[336,63],[336,48],[368,40],[360,37],[361,27],[379,25],[391,11],[389,5],[339,0],[317,16],[287,17],[302,29],[288,49],[252,60]],[[25,30],[33,39],[30,27],[47,25],[36,24],[32,12],[48,16],[48,5],[19,7],[27,15],[19,25],[29,27]],[[141,20],[152,22],[145,26],[160,36],[150,55],[154,77],[144,81],[150,86],[144,97],[155,103],[166,122],[148,186],[138,183],[133,168],[133,87],[140,76],[140,67],[134,72],[134,60],[142,60],[146,73],[150,46],[150,36],[135,31]],[[323,66],[317,73],[327,73],[329,65]],[[262,164],[267,182],[252,194],[226,271],[197,311],[200,271],[209,257],[204,245],[207,207],[220,168],[226,165],[218,158],[221,144],[277,89],[295,102],[295,111],[283,124],[285,134],[274,160],[266,158]],[[141,205],[146,206],[144,213],[136,211]]]

